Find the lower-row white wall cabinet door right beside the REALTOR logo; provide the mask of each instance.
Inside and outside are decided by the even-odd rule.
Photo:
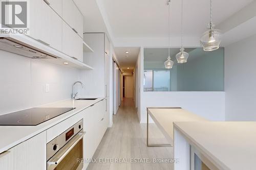
[[[43,0],[30,1],[29,10],[29,36],[61,51],[61,17]]]

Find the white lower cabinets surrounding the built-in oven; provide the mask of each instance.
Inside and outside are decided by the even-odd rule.
[[[46,170],[47,142],[83,118],[83,169],[86,169],[109,125],[107,100],[103,99],[47,131],[0,154],[0,170]]]

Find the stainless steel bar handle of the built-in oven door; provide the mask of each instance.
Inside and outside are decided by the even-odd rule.
[[[79,140],[81,140],[83,138],[83,136],[86,134],[86,132],[79,132],[77,135],[78,136],[75,136],[74,138],[77,138],[77,139],[74,139],[75,141],[73,141],[72,139],[65,145],[65,148],[67,148],[67,150],[62,154],[62,155],[59,155],[58,153],[53,156],[48,162],[47,162],[47,165],[48,165],[48,168],[47,169],[54,169],[58,164],[59,162],[65,158],[68,153],[75,147],[75,145],[79,142]],[[59,150],[58,152],[61,152],[61,150]]]

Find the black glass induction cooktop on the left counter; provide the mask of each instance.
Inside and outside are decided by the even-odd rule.
[[[0,126],[36,126],[75,108],[31,108],[0,115]]]

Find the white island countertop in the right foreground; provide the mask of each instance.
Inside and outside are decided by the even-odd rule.
[[[255,169],[256,122],[176,122],[174,127],[221,169]]]

